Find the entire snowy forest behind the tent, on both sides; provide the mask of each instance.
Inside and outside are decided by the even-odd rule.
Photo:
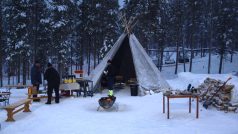
[[[135,20],[132,32],[146,50],[158,49],[161,71],[164,49],[172,46],[177,54],[187,48],[190,72],[195,51],[200,49],[203,57],[204,48],[208,49],[208,73],[211,53],[216,52],[218,73],[222,73],[224,59],[230,55],[232,62],[238,49],[237,4],[236,0],[125,0],[119,7],[118,0],[3,0],[0,85],[3,75],[8,76],[8,84],[12,76],[16,76],[13,82],[25,84],[35,60],[40,60],[43,69],[53,62],[62,76],[85,69],[87,62],[84,71],[89,74],[124,30],[123,19]]]

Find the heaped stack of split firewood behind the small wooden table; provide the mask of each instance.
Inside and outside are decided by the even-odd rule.
[[[196,88],[198,94],[200,94],[200,101],[204,103],[205,101],[209,100],[218,110],[223,110],[225,112],[238,112],[238,106],[232,105],[230,103],[232,96],[231,92],[234,88],[234,85],[225,84],[225,86],[220,89],[223,84],[224,81],[221,80],[215,80],[211,78],[205,79],[204,83]]]

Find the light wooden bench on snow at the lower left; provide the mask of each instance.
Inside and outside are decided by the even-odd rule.
[[[24,100],[20,100],[16,103],[6,106],[4,108],[7,111],[7,120],[6,121],[15,121],[13,119],[13,115],[15,113],[18,113],[21,110],[23,110],[23,112],[31,112],[31,110],[29,109],[30,103],[31,103],[31,99],[24,99]],[[22,105],[23,105],[23,107],[16,109]]]

